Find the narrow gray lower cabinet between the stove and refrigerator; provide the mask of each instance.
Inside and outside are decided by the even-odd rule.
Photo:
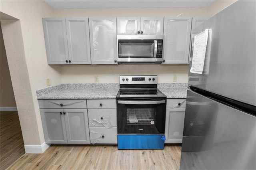
[[[165,143],[182,143],[186,99],[167,99]]]

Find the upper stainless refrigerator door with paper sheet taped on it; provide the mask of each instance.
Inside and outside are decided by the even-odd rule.
[[[256,106],[255,14],[256,1],[239,0],[193,30],[209,33],[203,73],[189,71],[189,85]]]

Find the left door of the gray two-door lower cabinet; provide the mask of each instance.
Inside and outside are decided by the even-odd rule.
[[[45,142],[66,144],[66,128],[62,109],[40,109]]]

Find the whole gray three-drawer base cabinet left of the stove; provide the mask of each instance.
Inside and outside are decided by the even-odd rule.
[[[92,144],[117,144],[116,99],[88,99]]]

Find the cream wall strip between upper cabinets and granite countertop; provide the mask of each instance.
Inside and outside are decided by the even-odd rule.
[[[62,65],[62,83],[119,83],[119,75],[158,75],[158,83],[172,83],[173,75],[177,82],[188,82],[188,65],[186,64],[146,64],[146,65]]]

